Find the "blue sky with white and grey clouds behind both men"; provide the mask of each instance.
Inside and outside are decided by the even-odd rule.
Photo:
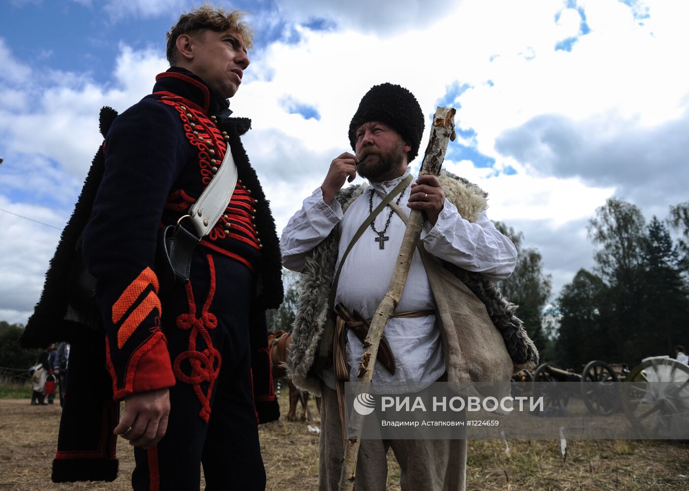
[[[199,3],[3,0],[0,320],[25,322],[38,300],[102,140],[99,108],[150,93],[167,68],[165,32]],[[688,198],[688,2],[218,4],[250,12],[256,30],[231,102],[253,120],[245,146],[278,230],[348,149],[358,101],[384,81],[417,96],[426,126],[437,105],[457,108],[445,166],[489,191],[489,218],[542,252],[555,294],[593,265],[586,223],[606,198],[649,218]]]

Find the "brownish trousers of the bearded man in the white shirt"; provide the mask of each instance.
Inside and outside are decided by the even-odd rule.
[[[323,384],[320,406],[318,491],[338,491],[342,471],[342,429],[338,397]],[[356,491],[385,491],[387,452],[400,464],[402,491],[464,491],[466,440],[362,440]]]

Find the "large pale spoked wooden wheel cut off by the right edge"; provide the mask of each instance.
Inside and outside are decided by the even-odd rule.
[[[627,375],[621,401],[639,437],[681,437],[677,430],[687,424],[681,412],[689,408],[689,366],[668,357],[644,359]]]

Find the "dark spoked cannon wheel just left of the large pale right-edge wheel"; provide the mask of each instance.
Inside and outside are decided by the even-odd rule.
[[[617,373],[606,362],[589,362],[582,372],[582,399],[588,412],[607,416],[619,409]]]

